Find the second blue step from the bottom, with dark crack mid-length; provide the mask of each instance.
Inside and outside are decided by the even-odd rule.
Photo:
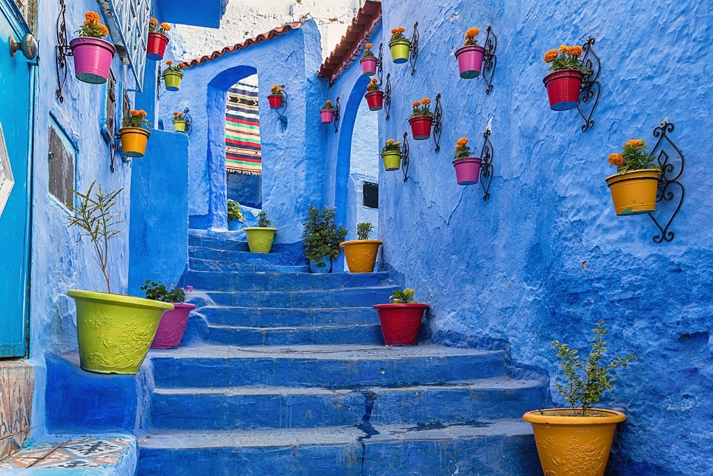
[[[452,424],[518,418],[543,407],[546,393],[543,381],[504,376],[405,388],[159,388],[151,397],[151,424],[164,430],[308,428],[359,425],[365,414],[372,424]]]

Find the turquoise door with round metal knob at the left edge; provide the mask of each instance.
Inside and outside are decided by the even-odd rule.
[[[0,0],[0,357],[23,356],[27,351],[34,71],[21,51],[11,56],[9,46],[10,36],[19,40],[26,33],[14,3]]]

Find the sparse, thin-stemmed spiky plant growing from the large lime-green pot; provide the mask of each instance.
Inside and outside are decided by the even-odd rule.
[[[91,192],[95,183],[96,181],[91,183],[86,193],[78,192],[73,188],[71,189],[71,191],[78,196],[79,205],[77,208],[74,208],[70,203],[65,203],[69,211],[76,214],[76,216],[68,216],[69,224],[67,228],[78,226],[83,230],[75,243],[79,243],[83,236],[87,236],[89,241],[94,245],[97,261],[101,266],[104,279],[106,279],[106,290],[108,293],[111,293],[111,280],[109,278],[108,268],[109,240],[121,233],[121,230],[116,228],[116,226],[118,226],[119,223],[123,223],[123,220],[117,219],[121,212],[112,213],[112,208],[116,206],[116,196],[123,191],[123,188],[105,195],[102,193],[100,185],[97,187],[96,198],[92,198]]]

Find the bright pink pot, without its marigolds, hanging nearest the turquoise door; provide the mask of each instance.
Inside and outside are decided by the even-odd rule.
[[[74,58],[74,77],[84,83],[106,83],[116,53],[114,45],[101,38],[79,36],[69,46]]]

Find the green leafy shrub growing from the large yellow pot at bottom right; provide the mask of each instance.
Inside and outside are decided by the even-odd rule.
[[[612,382],[616,379],[609,377],[610,370],[626,367],[630,360],[636,360],[636,355],[630,353],[626,358],[617,357],[609,363],[600,363],[607,351],[604,341],[607,329],[604,321],[600,320],[592,332],[595,336],[590,343],[592,350],[584,361],[580,360],[578,350],[570,349],[569,344],[560,343],[559,340],[552,343],[561,359],[560,369],[567,382],[566,385],[557,382],[555,388],[565,397],[565,401],[572,405],[574,416],[584,416],[586,410],[600,400],[605,390],[612,390]]]

